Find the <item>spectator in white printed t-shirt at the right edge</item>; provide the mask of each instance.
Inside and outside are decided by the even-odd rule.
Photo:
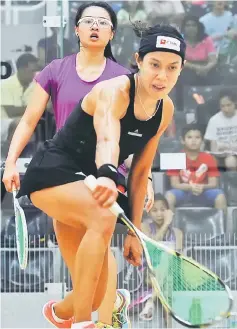
[[[232,90],[219,94],[220,111],[208,122],[205,140],[210,141],[210,150],[220,159],[220,166],[237,170],[237,111],[236,95]]]

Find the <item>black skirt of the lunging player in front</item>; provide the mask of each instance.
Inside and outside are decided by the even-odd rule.
[[[75,160],[63,148],[46,141],[31,160],[17,197],[27,195],[30,198],[35,191],[84,180],[89,174],[96,176],[95,164],[91,165],[82,159]],[[130,217],[127,196],[119,193],[117,202]]]

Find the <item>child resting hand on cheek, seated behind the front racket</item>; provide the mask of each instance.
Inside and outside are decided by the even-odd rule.
[[[142,231],[151,239],[163,241],[170,248],[180,252],[183,246],[183,233],[180,229],[172,227],[174,214],[169,209],[167,200],[160,193],[155,195],[155,203],[150,211],[150,217],[150,220],[142,223]],[[157,294],[153,292],[139,315],[141,320],[152,320],[156,300]]]

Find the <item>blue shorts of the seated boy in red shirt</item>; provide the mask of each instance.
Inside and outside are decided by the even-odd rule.
[[[220,189],[209,189],[204,190],[204,192],[200,195],[193,195],[191,192],[182,191],[179,189],[172,189],[169,191],[172,193],[176,198],[176,206],[182,205],[182,203],[193,203],[193,205],[200,205],[203,206],[211,206],[213,207],[215,204],[216,198],[223,194],[223,191]]]

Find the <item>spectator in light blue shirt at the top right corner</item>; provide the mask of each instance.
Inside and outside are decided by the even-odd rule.
[[[220,56],[228,52],[230,40],[228,30],[232,28],[234,18],[226,9],[226,1],[214,1],[212,11],[200,18],[205,26],[206,33],[215,41]]]

